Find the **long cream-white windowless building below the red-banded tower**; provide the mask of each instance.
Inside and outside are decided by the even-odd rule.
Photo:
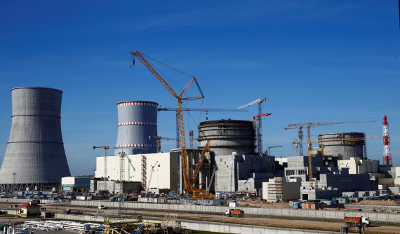
[[[123,180],[142,181],[142,158],[146,158],[148,188],[175,190],[177,186],[177,154],[146,153],[124,156]],[[120,180],[121,156],[107,156],[107,179]],[[96,158],[95,178],[105,177],[105,158]]]

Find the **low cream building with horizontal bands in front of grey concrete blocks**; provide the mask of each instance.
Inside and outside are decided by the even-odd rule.
[[[300,198],[301,179],[287,181],[285,177],[274,177],[262,183],[262,199],[267,202],[286,202]]]

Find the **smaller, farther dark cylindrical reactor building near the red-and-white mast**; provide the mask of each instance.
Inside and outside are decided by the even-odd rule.
[[[324,147],[326,156],[339,156],[342,159],[364,158],[364,137],[364,132],[333,132],[318,135],[318,141],[319,146]],[[361,140],[356,140],[359,138]]]

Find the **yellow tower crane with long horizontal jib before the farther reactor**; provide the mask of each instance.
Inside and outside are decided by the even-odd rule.
[[[316,126],[323,126],[323,125],[335,125],[335,124],[347,124],[347,123],[371,123],[375,121],[349,121],[349,122],[308,122],[308,123],[294,123],[294,124],[288,124],[287,128],[284,128],[284,130],[288,129],[298,129],[299,130],[299,140],[298,144],[300,144],[300,147],[302,146],[302,139],[300,139],[300,130],[302,131],[302,128],[307,128],[307,151],[308,151],[308,174],[309,174],[309,186],[312,187],[312,144],[311,144],[311,139],[310,139],[310,128],[311,127],[316,127]],[[302,132],[301,132],[302,135]],[[300,148],[301,149],[301,148]],[[300,151],[300,153],[302,153]],[[302,156],[300,154],[300,156]]]

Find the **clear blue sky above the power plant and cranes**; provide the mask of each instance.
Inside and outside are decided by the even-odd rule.
[[[62,90],[62,134],[72,174],[93,174],[92,145],[116,144],[116,103],[175,99],[129,52],[139,50],[193,74],[208,108],[235,109],[267,97],[263,142],[293,155],[289,123],[331,125],[322,132],[382,136],[388,116],[394,165],[400,166],[398,1],[1,1],[0,161],[11,128],[11,88]],[[179,90],[187,76],[157,65]],[[188,95],[195,95],[189,90]],[[186,103],[200,107],[201,102]],[[251,119],[208,113],[208,120]],[[193,121],[194,119],[195,121]],[[185,116],[196,129],[205,114]],[[175,136],[173,112],[159,112],[159,135]],[[173,141],[162,142],[164,151]],[[382,141],[367,142],[382,161]]]

